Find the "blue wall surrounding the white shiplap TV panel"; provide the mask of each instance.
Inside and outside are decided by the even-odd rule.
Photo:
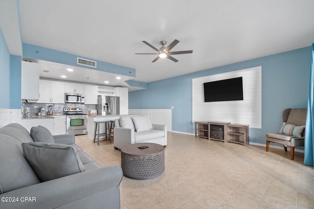
[[[192,79],[262,66],[262,129],[250,128],[250,142],[265,143],[266,133],[278,132],[282,111],[306,108],[311,47],[148,83],[148,88],[129,93],[130,109],[172,110],[172,130],[194,133]],[[178,70],[178,69],[176,69]]]

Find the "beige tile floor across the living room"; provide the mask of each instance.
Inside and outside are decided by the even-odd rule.
[[[303,153],[168,132],[165,171],[152,180],[123,177],[121,209],[314,209],[314,168]],[[101,166],[121,164],[113,143],[77,136]]]

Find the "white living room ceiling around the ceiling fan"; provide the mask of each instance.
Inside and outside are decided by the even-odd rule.
[[[23,42],[136,69],[152,82],[314,43],[314,0],[19,0]],[[2,25],[1,25],[2,27]],[[159,59],[161,40],[179,62]]]

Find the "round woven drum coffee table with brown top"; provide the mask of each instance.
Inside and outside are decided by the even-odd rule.
[[[140,146],[148,148],[140,149]],[[160,176],[165,170],[163,146],[155,143],[135,143],[121,149],[123,175],[130,179],[146,180]]]

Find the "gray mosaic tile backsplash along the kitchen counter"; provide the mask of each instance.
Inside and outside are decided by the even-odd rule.
[[[53,113],[63,113],[63,108],[65,107],[78,107],[83,108],[83,112],[88,112],[89,110],[95,110],[96,105],[87,105],[87,104],[43,104],[43,103],[23,103],[22,104],[22,113],[24,113],[24,108],[29,108],[30,113],[40,112],[40,108],[44,107],[46,113],[48,111],[48,106],[52,105]]]

